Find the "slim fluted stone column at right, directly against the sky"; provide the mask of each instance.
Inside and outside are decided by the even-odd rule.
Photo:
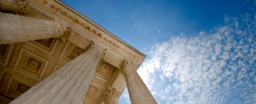
[[[126,79],[130,102],[132,104],[157,103],[140,75],[138,75],[136,71],[138,67],[138,65],[134,65],[127,58],[123,64],[122,72]]]

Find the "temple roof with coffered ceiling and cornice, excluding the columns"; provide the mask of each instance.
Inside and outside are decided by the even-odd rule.
[[[53,16],[58,16],[74,28],[66,44],[55,38],[47,38],[0,45],[0,103],[9,103],[69,61],[79,57],[87,51],[92,40],[104,44],[108,50],[99,62],[84,103],[102,103],[107,86],[123,92],[126,82],[120,74],[119,64],[123,63],[124,57],[135,64],[141,64],[146,57],[60,1],[32,0],[26,9],[28,13],[24,16],[48,21]]]

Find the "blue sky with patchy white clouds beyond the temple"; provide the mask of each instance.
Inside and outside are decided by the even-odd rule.
[[[158,103],[256,103],[256,1],[63,2],[147,55]]]

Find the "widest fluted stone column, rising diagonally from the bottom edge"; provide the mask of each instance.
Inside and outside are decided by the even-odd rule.
[[[11,103],[83,103],[103,57],[103,46],[95,44]]]

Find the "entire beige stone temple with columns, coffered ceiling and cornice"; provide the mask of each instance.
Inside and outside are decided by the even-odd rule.
[[[59,0],[0,0],[0,103],[157,103],[145,57]]]

